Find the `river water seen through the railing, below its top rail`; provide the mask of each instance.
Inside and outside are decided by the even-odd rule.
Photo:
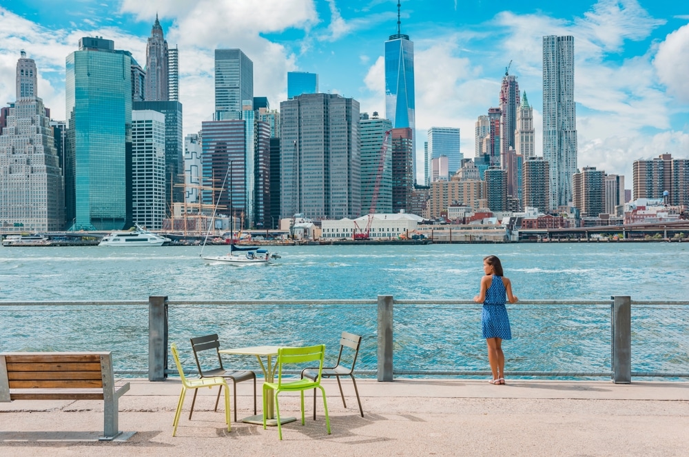
[[[227,345],[325,343],[361,334],[357,372],[395,376],[486,376],[480,307],[461,300],[3,302],[0,352],[103,350],[116,373],[164,380],[176,341],[195,367],[190,336],[217,332]],[[505,343],[509,376],[568,378],[689,377],[689,302],[520,301],[508,305],[513,340]],[[11,342],[11,343],[10,343]],[[632,350],[633,348],[633,350]],[[255,359],[233,359],[233,365]],[[250,364],[254,364],[253,366]]]

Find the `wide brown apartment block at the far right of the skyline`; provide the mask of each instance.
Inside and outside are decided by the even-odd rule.
[[[667,191],[669,205],[689,206],[689,159],[661,154],[652,160],[634,161],[633,172],[633,199],[662,199]]]

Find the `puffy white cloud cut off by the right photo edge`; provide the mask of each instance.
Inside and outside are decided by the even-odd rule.
[[[653,61],[661,83],[670,94],[689,103],[689,25],[680,27],[658,46]]]

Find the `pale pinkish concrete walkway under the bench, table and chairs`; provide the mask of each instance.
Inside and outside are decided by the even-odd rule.
[[[306,425],[232,423],[214,412],[216,390],[191,395],[172,437],[181,385],[133,380],[120,399],[127,440],[101,443],[103,403],[95,400],[17,400],[0,403],[0,456],[688,456],[689,383],[508,380],[359,380],[364,417],[351,382],[348,408],[334,380],[325,380],[332,434],[322,402]],[[240,418],[253,414],[249,383],[238,385]],[[260,412],[260,383],[258,384]],[[222,405],[222,402],[221,402]],[[232,405],[234,408],[234,405]],[[298,416],[298,395],[281,394],[283,416]],[[311,414],[311,418],[309,418]]]

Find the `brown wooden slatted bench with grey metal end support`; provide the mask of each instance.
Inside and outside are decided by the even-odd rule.
[[[115,388],[111,352],[0,353],[0,402],[12,400],[103,400],[102,441],[118,430],[117,401],[130,383]]]

